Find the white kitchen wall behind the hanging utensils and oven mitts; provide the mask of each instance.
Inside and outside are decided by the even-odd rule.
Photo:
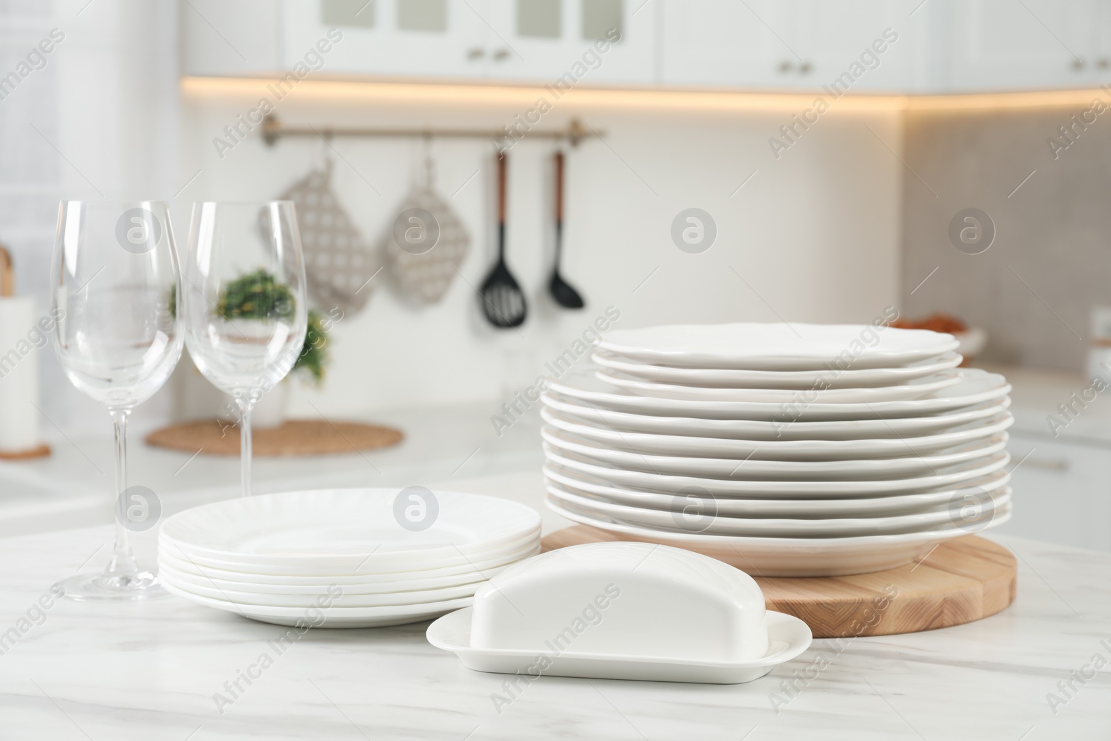
[[[222,160],[217,156],[212,138],[263,92],[262,82],[223,92],[187,88],[180,171],[182,179],[198,169],[201,176],[181,193],[183,206],[276,197],[320,157],[319,139],[267,148],[257,132]],[[277,114],[318,128],[496,129],[522,111],[523,101],[402,101],[324,94],[306,86],[280,102]],[[900,149],[900,114],[834,104],[777,160],[768,138],[795,112],[561,101],[541,126],[579,116],[607,132],[604,142],[587,141],[568,157],[563,273],[588,306],[569,312],[547,296],[552,146],[526,140],[509,154],[508,260],[530,301],[520,332],[488,327],[471,288],[494,259],[490,143],[433,142],[437,184],[446,198],[481,170],[450,199],[472,237],[461,268],[471,286],[457,280],[441,304],[413,309],[387,290],[383,271],[367,309],[334,330],[324,388],[298,384],[292,412],[313,414],[310,400],[326,414],[343,415],[503,397],[531,381],[610,304],[620,309],[615,327],[622,328],[780,318],[870,321],[898,296],[902,164],[883,142]],[[336,147],[342,159],[336,158],[334,188],[362,232],[377,240],[413,182],[420,142],[339,139]],[[670,238],[672,219],[689,207],[710,212],[718,224],[717,242],[702,254],[680,251]],[[178,232],[183,248],[184,218]]]

